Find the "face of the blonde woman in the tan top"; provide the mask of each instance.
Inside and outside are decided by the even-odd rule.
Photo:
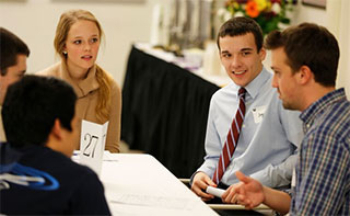
[[[69,30],[65,50],[68,70],[73,79],[84,79],[95,64],[100,38],[98,27],[92,21],[79,20]]]

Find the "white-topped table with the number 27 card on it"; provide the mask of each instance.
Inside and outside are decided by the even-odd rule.
[[[105,154],[100,178],[113,215],[218,215],[150,155]]]

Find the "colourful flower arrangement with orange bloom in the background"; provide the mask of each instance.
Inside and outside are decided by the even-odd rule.
[[[218,10],[218,15],[222,21],[232,16],[252,18],[259,23],[266,35],[290,23],[285,12],[292,11],[295,3],[296,0],[226,0],[224,9]]]

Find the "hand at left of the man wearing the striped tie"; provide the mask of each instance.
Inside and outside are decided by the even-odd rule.
[[[217,184],[205,172],[198,172],[194,177],[190,190],[206,202],[214,197],[213,195],[205,192],[208,185],[217,187]]]

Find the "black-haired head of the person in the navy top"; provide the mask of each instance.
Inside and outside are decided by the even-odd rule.
[[[71,133],[75,126],[72,121],[75,101],[77,95],[67,82],[51,77],[25,76],[9,87],[2,106],[8,141],[15,148],[46,146],[51,133],[56,136]],[[56,127],[62,132],[57,133]]]

